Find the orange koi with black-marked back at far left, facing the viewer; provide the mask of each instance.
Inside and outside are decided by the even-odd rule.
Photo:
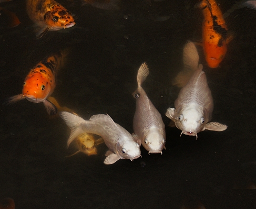
[[[22,94],[8,98],[4,104],[13,104],[26,98],[29,102],[43,102],[49,115],[56,114],[56,106],[47,98],[54,92],[57,71],[63,66],[66,55],[67,52],[63,51],[36,64],[23,82]]]

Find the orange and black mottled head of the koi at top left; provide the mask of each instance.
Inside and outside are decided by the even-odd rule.
[[[59,30],[70,28],[76,24],[74,18],[71,16],[71,12],[63,6],[52,4],[50,9],[44,15],[44,20],[50,29]]]

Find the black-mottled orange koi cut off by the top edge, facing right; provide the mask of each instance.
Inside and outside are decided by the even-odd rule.
[[[71,12],[54,0],[26,0],[27,14],[40,30],[36,37],[43,37],[49,30],[60,30],[75,25]]]

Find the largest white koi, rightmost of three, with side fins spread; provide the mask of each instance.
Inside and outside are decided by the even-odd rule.
[[[199,56],[193,42],[188,42],[183,49],[183,62],[193,71],[186,86],[182,87],[175,101],[175,108],[168,108],[169,117],[182,134],[197,136],[204,129],[222,131],[227,126],[211,122],[213,99],[208,87],[206,74],[202,71],[202,64],[198,65]]]

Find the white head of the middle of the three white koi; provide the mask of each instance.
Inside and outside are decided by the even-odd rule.
[[[166,136],[165,132],[160,129],[150,130],[142,140],[142,146],[150,153],[162,153],[165,148]]]

